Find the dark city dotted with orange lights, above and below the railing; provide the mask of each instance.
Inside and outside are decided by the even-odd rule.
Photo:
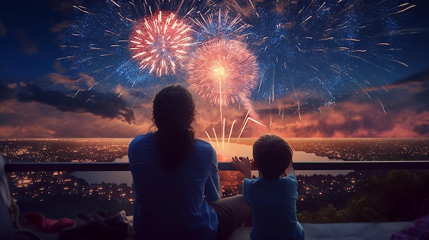
[[[0,154],[8,161],[73,161],[88,162],[112,161],[117,156],[125,154],[127,141],[130,139],[11,139],[3,140]],[[294,139],[296,149],[315,152],[318,156],[336,155],[344,157],[359,157],[367,155],[369,161],[382,159],[386,153],[394,152],[407,157],[427,157],[427,139]],[[345,148],[343,146],[348,146]],[[380,151],[384,149],[384,151]],[[340,150],[340,152],[336,152]],[[73,154],[67,154],[73,153]],[[69,159],[61,159],[61,155]],[[14,156],[14,157],[13,157]],[[51,156],[51,157],[47,157]],[[18,157],[18,158],[17,158]],[[23,159],[19,159],[23,157]],[[404,160],[407,160],[404,157]],[[125,159],[122,159],[125,160]],[[356,160],[356,159],[355,159]],[[399,159],[397,159],[399,160]],[[356,194],[361,194],[368,184],[383,184],[385,180],[406,179],[410,186],[427,188],[426,170],[350,170],[341,174],[315,173],[304,174],[306,171],[296,171],[298,180],[297,209],[299,213],[308,211],[315,213],[328,204],[338,211],[345,208]],[[388,173],[389,172],[389,173]],[[17,200],[20,210],[38,211],[46,216],[74,216],[81,212],[106,211],[107,209],[126,210],[132,213],[134,207],[134,191],[132,182],[126,177],[130,172],[64,172],[64,171],[25,171],[10,172],[11,194]],[[84,174],[82,174],[84,173]],[[90,176],[90,177],[89,177]],[[238,171],[220,171],[223,197],[241,194],[243,174]],[[397,178],[395,178],[395,176]],[[407,177],[404,177],[407,176]],[[392,178],[393,177],[393,180]],[[411,180],[410,180],[411,179]],[[408,185],[406,185],[409,187]],[[371,188],[369,188],[371,189]],[[423,188],[421,188],[423,189]],[[413,191],[417,193],[418,191]],[[150,196],[151,193],[148,193]],[[408,196],[409,197],[409,196]],[[417,198],[415,201],[419,201]],[[76,204],[79,202],[79,204]],[[402,205],[401,205],[402,206]],[[84,210],[85,209],[85,210]],[[404,210],[406,211],[406,209]],[[308,213],[306,213],[308,214]],[[315,213],[316,214],[316,213]],[[354,217],[350,215],[349,217]],[[352,221],[351,218],[350,221]],[[366,219],[366,218],[365,218]],[[334,221],[334,220],[332,220]],[[362,220],[360,220],[362,221]]]

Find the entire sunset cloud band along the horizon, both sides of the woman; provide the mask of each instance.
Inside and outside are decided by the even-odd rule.
[[[54,87],[73,85],[77,81],[62,75],[50,75],[49,79]],[[90,78],[82,81],[90,82]],[[0,84],[0,135],[134,137],[137,133],[146,133],[151,125],[153,96],[149,96],[149,92],[153,90],[124,89],[117,85],[107,94],[78,90],[75,96],[74,93],[69,96],[68,92],[44,90],[36,85]],[[352,92],[332,105],[316,99],[307,101],[301,103],[299,111],[294,97],[276,98],[271,104],[254,101],[252,109],[267,127],[247,122],[241,137],[258,137],[263,133],[286,138],[429,137],[429,82],[426,78],[393,83],[367,92],[371,98],[363,92]],[[234,120],[231,137],[238,137],[249,106],[224,106],[223,129],[219,106],[206,103],[198,96],[195,101],[197,137],[206,138],[207,131],[215,140],[212,130],[215,129],[219,140],[222,132],[228,139]]]

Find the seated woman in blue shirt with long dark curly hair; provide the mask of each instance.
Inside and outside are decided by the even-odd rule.
[[[195,138],[195,114],[191,93],[170,85],[154,98],[150,133],[130,144],[137,239],[228,239],[249,215],[243,196],[219,200],[217,155]]]

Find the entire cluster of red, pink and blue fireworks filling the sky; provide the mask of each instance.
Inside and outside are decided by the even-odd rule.
[[[74,6],[59,59],[97,88],[149,96],[190,83],[208,103],[292,105],[281,111],[299,115],[407,72],[404,36],[419,29],[404,21],[416,5],[401,2],[88,1]]]

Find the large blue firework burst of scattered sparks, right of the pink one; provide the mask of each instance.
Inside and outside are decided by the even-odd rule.
[[[256,100],[299,96],[300,103],[335,103],[343,92],[383,85],[408,65],[399,36],[418,29],[402,24],[416,5],[400,1],[226,1],[252,24],[249,49],[258,56]],[[291,88],[291,83],[295,89]],[[295,93],[295,94],[293,94]],[[303,111],[304,109],[301,109]]]

